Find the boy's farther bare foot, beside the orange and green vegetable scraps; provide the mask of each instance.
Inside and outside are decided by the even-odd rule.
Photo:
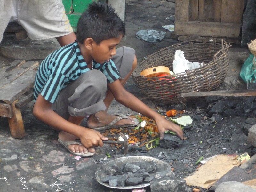
[[[111,121],[113,121],[116,115],[108,114],[107,111],[100,111],[98,113],[92,114],[87,119],[87,127],[88,128],[97,128],[108,125]],[[133,118],[128,117],[128,119],[121,119],[116,122],[115,125],[133,125],[135,122]]]

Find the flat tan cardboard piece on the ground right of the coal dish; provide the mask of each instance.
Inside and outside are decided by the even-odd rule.
[[[192,175],[185,178],[187,185],[209,188],[225,175],[230,169],[241,165],[235,156],[218,155],[198,168]]]

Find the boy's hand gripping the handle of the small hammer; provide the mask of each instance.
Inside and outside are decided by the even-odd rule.
[[[100,134],[100,132],[95,131],[93,129],[87,129],[80,136],[80,141],[86,148],[90,148],[93,146],[103,146],[102,140],[108,140],[107,137],[104,137]]]

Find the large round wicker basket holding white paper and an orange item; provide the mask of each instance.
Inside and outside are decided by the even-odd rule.
[[[229,45],[223,39],[209,38],[185,41],[161,49],[149,55],[133,71],[132,77],[142,93],[155,104],[171,104],[181,101],[179,93],[210,91],[217,88],[228,71]],[[200,68],[164,77],[144,77],[140,72],[146,68],[166,66],[171,71],[176,50],[184,51],[190,62],[204,63]]]

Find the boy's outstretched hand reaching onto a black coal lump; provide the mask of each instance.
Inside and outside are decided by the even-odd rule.
[[[183,140],[183,131],[180,129],[180,126],[172,123],[171,121],[161,117],[161,119],[156,120],[156,125],[158,128],[158,132],[160,134],[160,139],[164,138],[164,131],[173,131],[177,134],[177,136]]]

